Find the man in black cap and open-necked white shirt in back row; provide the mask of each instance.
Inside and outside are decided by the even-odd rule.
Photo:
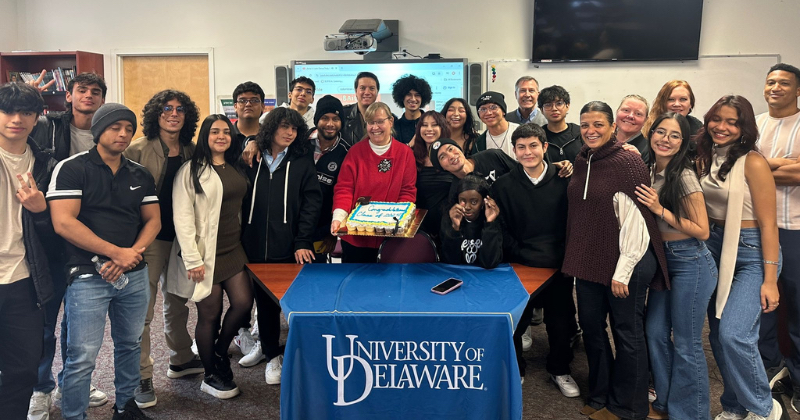
[[[478,118],[486,124],[486,131],[481,133],[476,142],[478,150],[499,149],[513,159],[511,134],[519,124],[506,121],[506,100],[503,94],[484,92],[475,107],[478,108]]]

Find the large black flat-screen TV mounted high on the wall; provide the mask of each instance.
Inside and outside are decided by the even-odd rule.
[[[534,0],[531,61],[697,60],[703,0]]]

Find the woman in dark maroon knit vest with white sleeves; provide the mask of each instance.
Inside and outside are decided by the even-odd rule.
[[[574,276],[578,315],[589,360],[589,394],[581,412],[591,419],[644,418],[648,288],[669,287],[664,247],[653,214],[636,200],[649,185],[641,158],[614,138],[614,115],[604,102],[580,112],[584,146],[567,188],[567,246],[562,272]],[[616,352],[606,333],[611,320]]]

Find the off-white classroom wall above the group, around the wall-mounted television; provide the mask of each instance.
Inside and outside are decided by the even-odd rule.
[[[398,19],[401,48],[421,56],[438,52],[443,57],[466,57],[484,63],[529,58],[533,24],[533,0],[495,0],[474,6],[455,0],[376,1],[368,3],[368,11],[357,10],[365,3],[354,0],[327,2],[331,5],[328,7],[317,6],[316,1],[285,0],[0,2],[9,3],[10,9],[16,4],[19,21],[17,36],[6,37],[14,19],[10,13],[2,13],[3,50],[80,49],[102,53],[110,101],[116,96],[116,80],[111,74],[114,51],[213,47],[216,95],[230,95],[245,80],[258,82],[269,94],[274,92],[276,65],[289,64],[293,59],[360,59],[351,53],[322,51],[324,35],[337,32],[346,19]],[[777,53],[783,61],[800,65],[798,14],[800,0],[705,0],[700,54]],[[779,34],[778,29],[784,32]],[[680,22],[675,23],[675,30],[680,30]],[[579,83],[580,72],[569,78]],[[655,93],[641,92],[646,97]]]

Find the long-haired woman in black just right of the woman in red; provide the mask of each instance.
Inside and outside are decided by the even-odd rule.
[[[427,111],[417,122],[417,131],[411,146],[417,163],[417,208],[428,210],[420,229],[436,241],[442,215],[446,211],[447,194],[456,177],[433,166],[430,150],[436,140],[449,137],[450,128],[444,116],[436,111]]]

